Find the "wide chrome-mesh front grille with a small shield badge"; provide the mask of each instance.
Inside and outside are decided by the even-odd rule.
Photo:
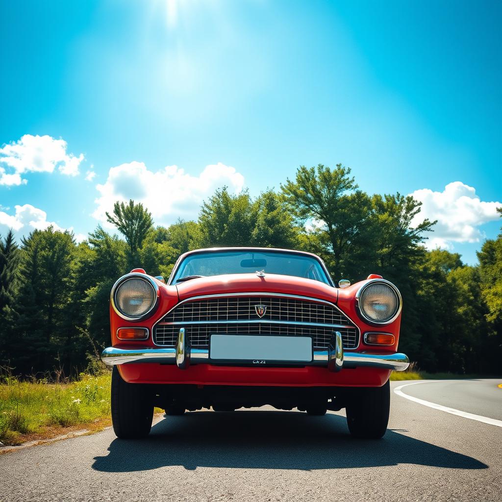
[[[266,307],[260,318],[255,306]],[[176,345],[180,328],[190,344],[207,348],[211,334],[311,336],[315,349],[326,349],[334,331],[343,348],[355,348],[359,332],[350,319],[327,303],[282,296],[229,296],[187,301],[169,312],[154,329],[157,345]]]

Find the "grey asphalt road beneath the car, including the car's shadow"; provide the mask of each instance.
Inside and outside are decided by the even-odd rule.
[[[402,392],[501,419],[497,384],[426,382]],[[193,412],[160,418],[143,441],[108,429],[2,455],[0,500],[500,502],[501,464],[502,427],[393,392],[381,441],[353,440],[342,412]]]

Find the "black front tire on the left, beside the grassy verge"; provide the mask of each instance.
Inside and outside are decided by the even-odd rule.
[[[146,385],[128,384],[113,366],[111,372],[111,423],[120,439],[140,439],[152,428],[154,405]]]

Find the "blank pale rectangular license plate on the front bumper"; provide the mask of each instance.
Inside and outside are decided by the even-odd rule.
[[[312,361],[312,338],[307,336],[211,335],[211,359],[237,361]]]

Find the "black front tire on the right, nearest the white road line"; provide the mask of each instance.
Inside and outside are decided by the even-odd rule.
[[[391,386],[354,389],[345,408],[350,434],[362,439],[380,439],[387,431],[391,409]]]

